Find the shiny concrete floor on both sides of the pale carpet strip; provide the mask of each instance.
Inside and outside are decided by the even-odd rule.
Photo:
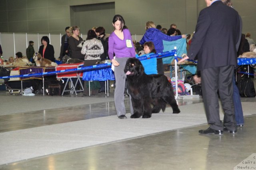
[[[9,95],[0,92],[0,95]],[[100,94],[99,96],[104,97]],[[78,96],[83,97],[81,93]],[[93,96],[92,96],[93,97]],[[110,98],[113,97],[110,92]],[[256,102],[256,98],[241,98],[242,102]],[[179,105],[194,104],[202,100],[179,100]],[[128,100],[125,102],[128,108]],[[51,109],[51,117],[43,120],[43,110],[0,116],[0,133],[28,129],[39,126],[66,123],[96,117],[115,115],[113,103]],[[108,112],[101,108],[108,107]],[[252,106],[255,107],[255,106]],[[90,115],[80,112],[93,109]],[[72,113],[76,118],[71,117]],[[61,119],[60,119],[61,117]],[[198,130],[208,125],[175,129],[162,133],[68,150],[57,154],[36,157],[20,162],[0,165],[1,170],[233,170],[233,168],[256,153],[256,115],[245,117],[245,127],[238,134],[199,135]],[[53,121],[54,120],[54,121]],[[20,121],[28,121],[19,125]],[[95,127],[97,128],[97,127]],[[181,135],[182,134],[182,135]],[[254,160],[255,161],[255,160]],[[246,165],[246,164],[245,164]],[[255,165],[255,164],[254,164]],[[256,168],[255,168],[256,169]]]

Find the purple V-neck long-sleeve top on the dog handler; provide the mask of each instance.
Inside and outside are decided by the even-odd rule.
[[[132,43],[132,36],[129,29],[124,29],[124,39],[120,39],[114,31],[110,34],[108,38],[108,56],[109,59],[112,60],[114,58],[114,54],[118,58],[122,57],[135,57],[135,49]],[[126,42],[131,41],[132,47],[127,47]]]

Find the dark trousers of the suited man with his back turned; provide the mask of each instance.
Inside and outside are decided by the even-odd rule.
[[[236,130],[235,111],[233,103],[234,66],[212,67],[201,70],[202,92],[204,94],[204,108],[206,118],[211,129]],[[224,111],[224,121],[220,120],[220,106],[218,100],[219,91],[222,108]]]

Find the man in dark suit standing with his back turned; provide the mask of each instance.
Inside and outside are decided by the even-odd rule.
[[[198,57],[198,70],[201,71],[202,92],[206,118],[210,127],[200,130],[201,134],[222,135],[224,126],[230,133],[237,133],[233,104],[234,66],[236,44],[240,35],[238,12],[222,3],[221,0],[205,0],[204,8],[198,17],[196,31],[185,59]],[[218,94],[224,110],[224,122],[220,120]]]

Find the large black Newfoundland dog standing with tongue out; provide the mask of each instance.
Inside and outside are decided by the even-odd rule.
[[[167,77],[159,74],[147,75],[144,67],[136,58],[126,62],[124,73],[127,75],[128,92],[132,97],[134,114],[131,118],[150,118],[152,113],[165,110],[166,104],[172,106],[173,113],[180,113],[174,98],[172,84]]]

